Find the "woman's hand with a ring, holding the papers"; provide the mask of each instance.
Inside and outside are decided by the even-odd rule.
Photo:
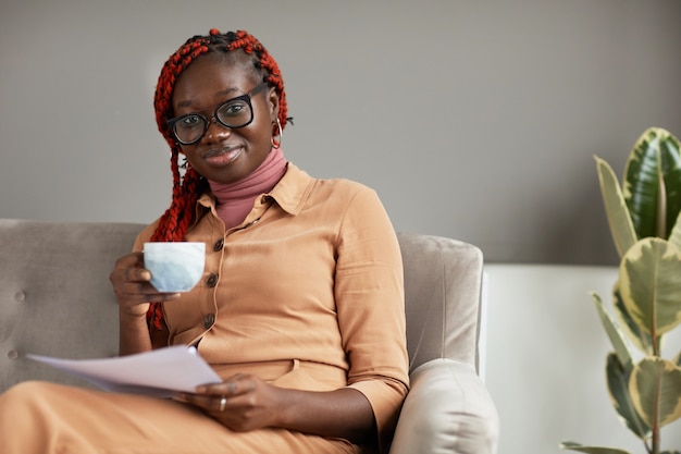
[[[245,432],[277,425],[277,394],[284,390],[245,373],[222,383],[198,386],[181,400],[195,405],[225,427]]]

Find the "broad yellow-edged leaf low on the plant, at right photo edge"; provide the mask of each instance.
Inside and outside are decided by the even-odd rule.
[[[664,427],[681,418],[681,368],[647,357],[634,366],[629,392],[636,412],[649,427]]]

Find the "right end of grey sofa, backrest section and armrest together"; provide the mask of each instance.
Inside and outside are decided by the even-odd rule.
[[[391,454],[496,453],[496,407],[478,376],[483,256],[456,240],[398,233],[411,390]]]

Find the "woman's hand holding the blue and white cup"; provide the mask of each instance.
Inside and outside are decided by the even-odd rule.
[[[162,293],[151,285],[151,272],[145,269],[143,253],[132,253],[119,258],[109,275],[113,292],[119,298],[121,315],[144,317],[149,303],[175,299],[179,293]]]

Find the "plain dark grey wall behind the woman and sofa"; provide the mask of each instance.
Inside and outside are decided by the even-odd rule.
[[[592,156],[681,135],[676,1],[0,0],[0,217],[151,221],[151,97],[190,35],[246,28],[284,73],[288,159],[379,191],[398,230],[490,262],[610,263]]]

